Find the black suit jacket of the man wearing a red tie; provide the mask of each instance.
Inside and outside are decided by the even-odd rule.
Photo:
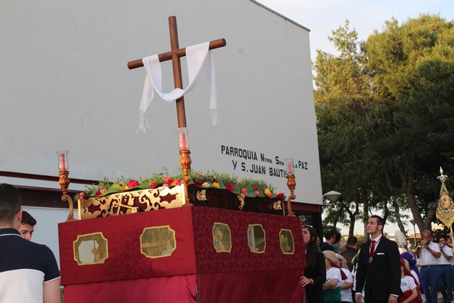
[[[400,255],[397,243],[388,238],[380,239],[372,263],[369,263],[371,241],[362,244],[358,270],[356,272],[355,291],[361,292],[364,286],[365,300],[387,300],[389,294],[401,294],[400,290]]]

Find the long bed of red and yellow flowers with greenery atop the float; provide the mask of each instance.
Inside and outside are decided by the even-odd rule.
[[[111,182],[104,178],[98,185],[87,186],[87,189],[77,194],[75,199],[88,199],[89,197],[103,197],[118,192],[128,192],[138,189],[153,189],[155,187],[172,187],[182,184],[182,172],[180,175],[170,177],[169,175],[153,174],[151,177],[141,177],[139,180],[131,178],[118,178],[116,182]],[[246,197],[277,197],[284,199],[282,192],[273,194],[275,187],[267,184],[262,180],[253,180],[250,178],[239,178],[236,175],[223,173],[219,174],[214,171],[200,172],[192,171],[189,174],[190,183],[198,187],[214,187],[216,189],[226,189],[234,194],[244,194]]]

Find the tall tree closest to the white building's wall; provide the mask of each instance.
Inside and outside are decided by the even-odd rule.
[[[370,136],[375,132],[371,117],[377,104],[371,103],[370,77],[365,57],[358,52],[358,33],[348,25],[345,21],[329,38],[340,52],[338,57],[317,51],[314,79],[323,187],[343,192],[336,207],[326,208],[325,223],[345,222],[348,214],[349,236],[353,236],[359,205],[367,216],[367,205],[374,197],[369,188],[377,163]]]

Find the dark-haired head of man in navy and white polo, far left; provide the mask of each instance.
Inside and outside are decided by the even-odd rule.
[[[18,189],[11,184],[0,184],[0,226],[16,228],[21,225],[22,200]]]

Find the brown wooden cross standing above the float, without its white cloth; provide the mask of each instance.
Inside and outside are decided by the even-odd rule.
[[[169,30],[170,30],[170,52],[157,55],[159,61],[172,60],[173,66],[173,80],[176,89],[183,89],[182,80],[182,67],[179,61],[180,57],[186,55],[186,48],[179,48],[178,45],[178,31],[177,31],[177,18],[175,16],[169,17]],[[221,38],[218,40],[210,41],[209,49],[222,48],[226,46],[226,40]],[[128,68],[133,70],[138,67],[143,67],[142,59],[128,62]],[[177,118],[178,127],[186,127],[186,111],[184,110],[184,97],[177,99]]]

